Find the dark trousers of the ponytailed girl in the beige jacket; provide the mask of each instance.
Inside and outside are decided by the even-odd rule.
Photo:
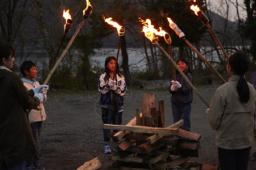
[[[227,150],[218,147],[218,161],[221,170],[246,170],[251,147],[240,150]]]

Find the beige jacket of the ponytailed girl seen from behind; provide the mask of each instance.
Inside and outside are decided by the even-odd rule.
[[[229,150],[250,147],[253,138],[256,92],[247,83],[250,100],[246,104],[241,103],[237,92],[240,77],[231,76],[228,83],[216,90],[208,111],[210,126],[217,131],[216,145]]]

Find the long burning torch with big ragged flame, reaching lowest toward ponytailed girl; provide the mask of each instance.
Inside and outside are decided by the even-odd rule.
[[[170,61],[172,62],[172,65],[175,66],[175,68],[177,69],[177,71],[179,71],[179,73],[181,74],[181,76],[183,76],[183,78],[185,79],[185,81],[189,84],[189,86],[193,89],[193,91],[196,92],[196,94],[200,97],[200,99],[205,103],[205,105],[207,105],[207,107],[209,108],[209,103],[204,99],[204,97],[199,93],[199,91],[197,91],[196,87],[193,86],[193,84],[189,81],[189,79],[187,78],[187,76],[185,76],[185,74],[183,73],[183,71],[180,70],[180,68],[176,65],[176,63],[174,62],[174,59],[172,59],[167,53],[166,51],[162,48],[162,46],[160,46],[160,44],[158,43],[158,37],[156,37],[156,35],[159,35],[158,31],[154,28],[154,25],[151,25],[151,21],[150,19],[147,19],[146,22],[148,24],[144,24],[144,26],[142,27],[142,32],[144,32],[145,36],[152,42],[152,44],[156,44],[160,50],[162,50],[162,52],[164,53],[164,56],[166,56],[168,59],[170,59]]]

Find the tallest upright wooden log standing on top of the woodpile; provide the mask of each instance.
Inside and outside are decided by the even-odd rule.
[[[155,94],[143,94],[142,98],[142,126],[145,125],[145,116],[150,114],[150,107],[155,105]]]

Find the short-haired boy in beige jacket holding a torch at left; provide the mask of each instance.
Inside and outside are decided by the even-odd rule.
[[[36,65],[32,61],[24,61],[20,66],[20,73],[24,76],[22,78],[22,82],[27,90],[31,88],[40,86],[39,82],[35,80],[38,71],[36,70]],[[44,89],[47,92],[48,88]],[[46,97],[44,101],[46,101]],[[30,120],[30,125],[32,129],[32,133],[35,139],[36,148],[39,150],[39,140],[41,136],[42,122],[46,120],[46,112],[44,111],[43,103],[40,103],[38,109],[32,109],[30,113],[28,113],[28,119]],[[44,169],[42,165],[40,165],[39,155],[34,156],[32,160],[28,160],[26,169]]]

